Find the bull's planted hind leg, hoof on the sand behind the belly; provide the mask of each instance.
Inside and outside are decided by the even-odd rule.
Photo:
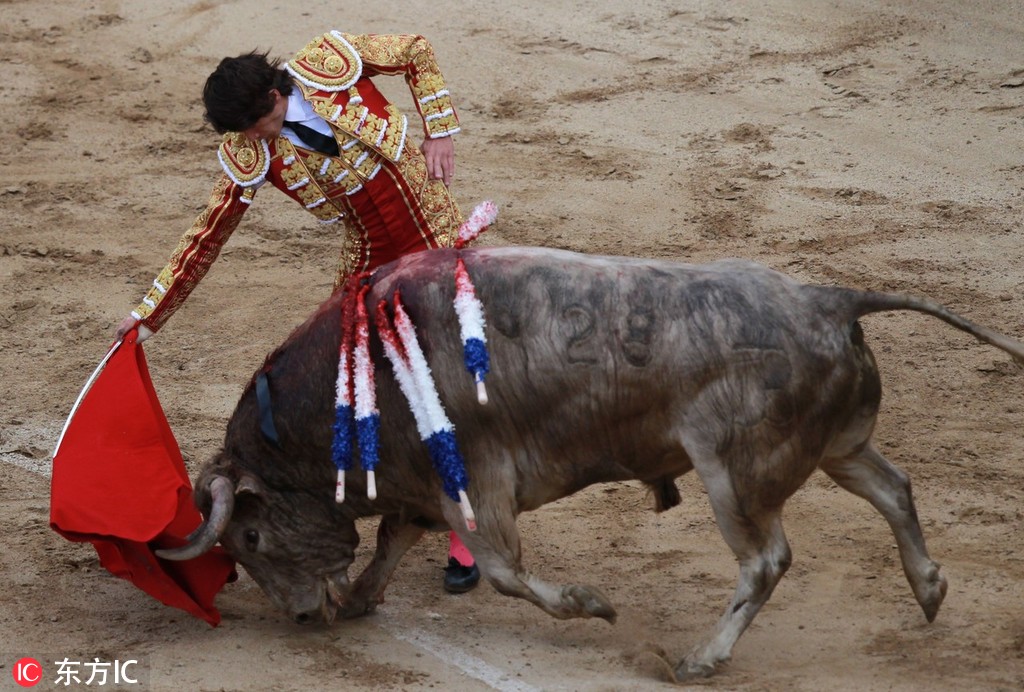
[[[709,479],[705,479],[706,484]],[[775,586],[790,568],[792,553],[782,530],[781,509],[749,516],[726,474],[709,488],[719,530],[739,561],[739,580],[732,603],[719,619],[707,643],[698,645],[676,667],[682,682],[706,678],[719,663],[729,660],[732,647],[755,615],[768,601]]]

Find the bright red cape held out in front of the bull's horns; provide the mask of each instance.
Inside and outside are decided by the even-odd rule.
[[[233,560],[219,547],[184,562],[153,552],[183,545],[202,519],[133,330],[60,439],[50,527],[69,540],[91,543],[103,567],[165,605],[216,625],[213,599],[234,580]]]

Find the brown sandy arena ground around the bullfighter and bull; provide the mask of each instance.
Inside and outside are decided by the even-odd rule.
[[[463,121],[455,192],[467,211],[501,207],[486,243],[748,257],[923,294],[1024,337],[1017,0],[0,0],[0,17],[11,689],[12,662],[33,653],[138,658],[155,690],[669,689],[649,652],[681,657],[731,597],[735,562],[689,477],[659,516],[622,483],[522,517],[528,564],[603,588],[613,626],[557,621],[486,585],[443,594],[432,535],[373,616],[301,629],[243,575],[211,629],[49,529],[65,417],[218,171],[199,93],[223,55],[287,56],[330,29],[426,35]],[[380,83],[412,112],[400,80]],[[335,232],[262,193],[145,344],[193,471],[264,355],[327,296]],[[1022,689],[1024,374],[935,319],[863,323],[885,387],[877,437],[913,478],[945,604],[928,624],[884,520],[815,475],[787,506],[793,568],[700,687]]]

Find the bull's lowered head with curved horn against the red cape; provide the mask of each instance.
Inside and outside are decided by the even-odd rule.
[[[206,520],[187,545],[157,555],[189,560],[219,540],[296,622],[330,622],[348,592],[348,567],[359,540],[332,489],[321,498],[303,488],[270,488],[254,475],[211,464],[196,483],[196,504]]]

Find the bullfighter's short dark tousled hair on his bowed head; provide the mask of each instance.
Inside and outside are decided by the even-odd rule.
[[[292,93],[292,78],[281,60],[267,59],[267,52],[252,51],[238,57],[225,57],[206,80],[203,104],[206,121],[217,132],[242,132],[270,113],[273,98],[270,89],[281,95]]]

